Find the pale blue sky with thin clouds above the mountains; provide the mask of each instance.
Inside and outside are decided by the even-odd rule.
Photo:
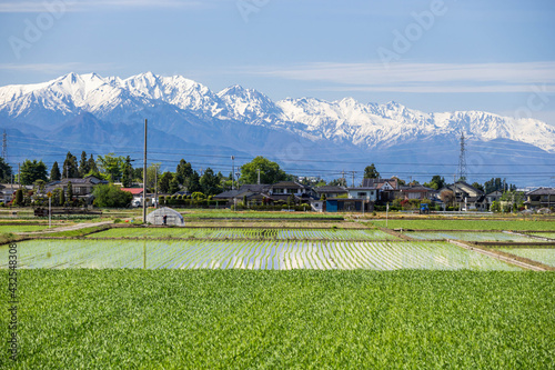
[[[555,124],[555,1],[0,0],[0,86],[152,71]]]

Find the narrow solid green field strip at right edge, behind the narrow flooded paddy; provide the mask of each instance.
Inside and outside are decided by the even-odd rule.
[[[385,220],[373,220],[372,224],[385,227]],[[389,220],[390,229],[414,230],[553,230],[555,220]]]

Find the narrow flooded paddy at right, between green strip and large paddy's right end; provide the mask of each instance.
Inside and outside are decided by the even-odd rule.
[[[508,232],[476,232],[476,231],[407,231],[403,234],[421,240],[452,239],[466,241],[514,241],[532,242],[535,239]]]

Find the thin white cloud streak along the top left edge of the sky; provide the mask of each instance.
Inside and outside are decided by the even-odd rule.
[[[43,12],[48,6],[63,7],[63,11],[90,11],[114,8],[205,8],[209,1],[201,0],[47,0],[2,1],[0,13]],[[57,11],[60,8],[54,8]]]

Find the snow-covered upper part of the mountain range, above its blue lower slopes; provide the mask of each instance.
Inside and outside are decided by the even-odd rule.
[[[456,140],[464,132],[471,140],[508,139],[555,152],[555,128],[534,119],[515,120],[482,111],[425,113],[395,101],[365,104],[353,98],[332,102],[287,98],[274,102],[239,84],[214,93],[182,76],[145,72],[120,79],[72,72],[43,83],[0,88],[0,117],[34,124],[57,126],[83,112],[120,123],[145,109],[157,109],[162,117],[189,114],[205,122],[263,126],[313,141],[365,149],[434,138]]]

